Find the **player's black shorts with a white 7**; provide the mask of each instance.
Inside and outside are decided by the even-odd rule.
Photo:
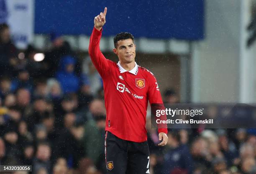
[[[106,131],[105,161],[108,174],[149,174],[148,142],[122,140]]]

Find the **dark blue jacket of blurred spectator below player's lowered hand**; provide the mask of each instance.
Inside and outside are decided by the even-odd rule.
[[[175,169],[186,170],[187,174],[193,171],[193,160],[187,145],[180,145],[164,154],[162,174],[172,174]]]

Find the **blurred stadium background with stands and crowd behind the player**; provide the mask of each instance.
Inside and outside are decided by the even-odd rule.
[[[165,102],[255,103],[255,3],[0,0],[14,44],[1,30],[0,164],[31,164],[33,174],[106,172],[101,79],[88,58],[105,6],[102,52],[117,61],[113,36],[133,33],[136,62],[154,73]],[[254,129],[169,130],[158,148],[147,123],[151,174],[256,173]]]

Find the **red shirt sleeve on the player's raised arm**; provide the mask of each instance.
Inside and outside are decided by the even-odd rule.
[[[102,35],[102,29],[98,31],[95,27],[93,28],[92,35],[90,37],[89,44],[89,55],[92,63],[96,67],[100,76],[104,78],[110,70],[110,62],[100,51],[100,38]]]

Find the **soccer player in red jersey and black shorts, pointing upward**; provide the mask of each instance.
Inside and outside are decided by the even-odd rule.
[[[116,64],[100,51],[102,27],[107,8],[94,18],[89,54],[103,80],[105,107],[105,162],[109,174],[149,174],[149,150],[146,131],[146,110],[161,104],[162,98],[154,75],[135,62],[136,45],[130,33],[114,38]],[[167,128],[158,128],[158,145],[165,146]]]

